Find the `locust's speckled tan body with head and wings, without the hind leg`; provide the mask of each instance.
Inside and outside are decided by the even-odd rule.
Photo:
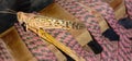
[[[18,20],[21,24],[24,22],[26,26],[43,28],[43,29],[50,29],[50,28],[82,29],[85,28],[85,25],[82,23],[47,17],[47,16],[34,14],[34,13],[18,12]]]

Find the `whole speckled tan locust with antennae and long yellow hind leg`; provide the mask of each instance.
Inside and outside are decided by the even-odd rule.
[[[2,13],[11,13],[6,11],[0,11]],[[24,25],[25,30],[32,30],[46,41],[53,44],[62,51],[70,56],[76,61],[85,61],[82,57],[79,57],[74,50],[66,47],[64,44],[57,41],[53,36],[45,32],[45,29],[59,28],[59,29],[82,29],[85,25],[78,22],[65,21],[53,19],[34,13],[14,12],[16,14],[20,25]]]

